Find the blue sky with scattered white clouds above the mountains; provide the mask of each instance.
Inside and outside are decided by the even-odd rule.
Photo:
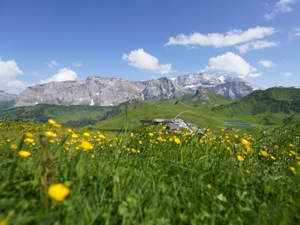
[[[197,71],[300,86],[299,0],[1,0],[0,89]]]

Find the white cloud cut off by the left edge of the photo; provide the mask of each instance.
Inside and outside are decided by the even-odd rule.
[[[19,68],[15,60],[4,61],[0,58],[0,89],[9,93],[18,93],[28,86],[23,81],[18,80],[18,76],[23,71]]]

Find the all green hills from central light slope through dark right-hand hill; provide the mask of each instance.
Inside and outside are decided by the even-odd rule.
[[[209,101],[205,100],[207,97]],[[126,125],[127,120],[127,126],[132,128],[140,125],[140,119],[174,118],[182,112],[180,118],[198,126],[224,126],[227,121],[278,125],[294,113],[296,113],[294,119],[300,121],[299,101],[300,89],[295,88],[255,91],[236,102],[230,102],[208,92],[205,96],[201,93],[197,96],[186,95],[177,102],[175,100],[145,102],[137,109],[128,110],[127,116],[125,113],[119,114],[97,123],[96,126],[103,129],[121,128]]]

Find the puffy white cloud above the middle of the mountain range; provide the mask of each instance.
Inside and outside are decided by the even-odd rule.
[[[159,64],[159,60],[156,57],[145,52],[142,48],[132,50],[128,54],[124,54],[122,59],[127,61],[130,66],[139,69],[148,70],[160,74],[168,74],[172,72],[171,64]]]

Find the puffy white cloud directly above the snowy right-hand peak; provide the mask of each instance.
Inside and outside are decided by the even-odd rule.
[[[251,66],[241,56],[232,52],[226,52],[223,55],[210,58],[206,71],[233,73],[241,78],[247,76],[257,77],[261,75],[256,68]]]

